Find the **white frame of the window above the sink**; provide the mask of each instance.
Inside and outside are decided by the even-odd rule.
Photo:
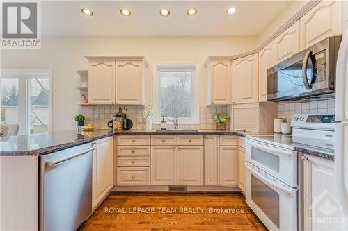
[[[199,65],[197,63],[190,64],[155,64],[154,74],[153,74],[153,84],[152,84],[152,105],[154,108],[154,119],[153,124],[161,123],[161,90],[160,90],[160,77],[161,70],[168,71],[184,71],[186,69],[193,69],[191,71],[191,96],[192,96],[192,108],[191,117],[179,117],[179,124],[199,124],[199,107],[200,107],[200,73],[198,69]]]

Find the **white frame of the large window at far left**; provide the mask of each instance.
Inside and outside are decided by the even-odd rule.
[[[42,75],[47,74],[49,79],[49,124],[48,132],[52,132],[52,70],[51,69],[3,69],[0,71],[1,78],[18,78],[18,92],[24,92],[24,94],[18,94],[18,108],[19,108],[19,124],[25,124],[25,129],[19,128],[18,135],[30,134],[30,118],[29,118],[29,107],[30,107],[30,83],[29,79],[35,77],[35,74]],[[42,76],[37,76],[42,78]],[[1,102],[0,102],[1,104]],[[20,116],[22,115],[22,116]]]

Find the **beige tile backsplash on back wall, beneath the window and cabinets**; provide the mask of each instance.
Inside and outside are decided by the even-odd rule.
[[[127,110],[125,110],[127,109]],[[114,114],[118,112],[117,105],[93,105],[93,106],[79,106],[78,113],[83,114],[86,118],[86,123],[93,123],[95,129],[110,129],[107,123],[111,121]],[[127,119],[133,121],[133,130],[144,130],[145,119],[143,118],[142,106],[125,106],[122,107],[122,112],[127,114]],[[179,128],[183,129],[216,129],[216,123],[213,119],[214,115],[220,112],[227,114],[227,107],[200,107],[200,124],[183,124]],[[95,114],[99,119],[94,119]],[[141,122],[138,122],[139,119]],[[153,124],[152,129],[157,130],[160,125]],[[173,128],[171,122],[167,122],[167,128]]]

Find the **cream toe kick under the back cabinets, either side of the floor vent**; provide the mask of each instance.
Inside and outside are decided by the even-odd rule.
[[[111,191],[168,191],[168,186],[117,186],[114,185]],[[202,186],[187,186],[186,191],[183,192],[241,192],[239,187],[235,186],[211,186],[211,185],[202,185]]]

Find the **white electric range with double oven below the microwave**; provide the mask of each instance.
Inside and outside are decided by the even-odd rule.
[[[302,230],[301,155],[333,153],[335,116],[296,114],[292,135],[246,135],[246,203],[269,230]]]

